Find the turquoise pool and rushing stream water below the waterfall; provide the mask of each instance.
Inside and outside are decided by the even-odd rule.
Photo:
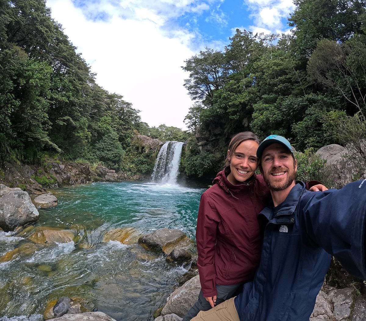
[[[34,228],[76,229],[78,236],[75,242],[39,246],[0,263],[0,320],[42,320],[37,314],[43,313],[47,300],[60,295],[81,297],[86,306],[95,305],[117,321],[153,320],[154,310],[177,286],[185,267],[171,267],[163,255],[138,244],[103,242],[103,236],[123,227],[135,234],[168,227],[194,240],[203,191],[135,182],[57,189],[59,205],[40,209]],[[0,256],[29,242],[0,232]]]

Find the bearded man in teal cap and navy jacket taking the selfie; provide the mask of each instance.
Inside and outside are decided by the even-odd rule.
[[[268,136],[257,157],[273,206],[258,215],[265,228],[254,281],[192,320],[309,321],[330,254],[366,279],[366,179],[340,190],[307,191],[295,182],[297,161],[282,136]]]

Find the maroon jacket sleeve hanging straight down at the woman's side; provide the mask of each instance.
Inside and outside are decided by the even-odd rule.
[[[203,193],[198,209],[196,242],[199,281],[204,297],[217,295],[214,253],[218,225],[219,216],[216,209],[211,206],[209,197]]]

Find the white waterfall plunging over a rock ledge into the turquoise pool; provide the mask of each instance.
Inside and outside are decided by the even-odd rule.
[[[156,158],[152,180],[160,184],[176,184],[179,174],[182,142],[169,141],[161,147]]]

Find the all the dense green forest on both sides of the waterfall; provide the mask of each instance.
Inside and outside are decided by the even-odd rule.
[[[141,152],[134,137],[142,134],[187,141],[182,171],[197,177],[222,167],[240,131],[283,135],[307,154],[345,145],[352,131],[365,138],[366,1],[295,5],[290,34],[238,29],[224,50],[184,62],[193,100],[184,132],[149,127],[96,84],[45,1],[0,0],[0,163],[48,155],[149,173],[156,151]]]

